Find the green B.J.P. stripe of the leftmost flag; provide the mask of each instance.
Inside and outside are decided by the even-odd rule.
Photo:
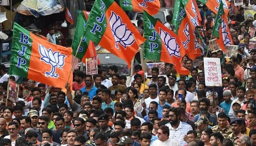
[[[27,77],[32,43],[30,32],[14,22],[10,74]]]

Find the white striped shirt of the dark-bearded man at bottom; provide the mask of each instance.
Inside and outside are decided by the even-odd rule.
[[[189,124],[180,121],[180,124],[176,129],[174,129],[170,123],[167,123],[165,125],[168,126],[170,130],[169,138],[178,141],[181,146],[188,144],[183,140],[183,137],[187,134],[189,130],[193,130]]]

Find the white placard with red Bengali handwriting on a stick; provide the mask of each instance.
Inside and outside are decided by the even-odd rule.
[[[206,86],[222,86],[221,61],[219,58],[204,58],[204,76]]]

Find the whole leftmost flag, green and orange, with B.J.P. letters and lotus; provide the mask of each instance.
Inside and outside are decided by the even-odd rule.
[[[54,45],[14,23],[10,74],[65,89],[71,63],[70,47]],[[70,85],[72,79],[71,73]]]

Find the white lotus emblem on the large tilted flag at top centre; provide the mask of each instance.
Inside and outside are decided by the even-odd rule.
[[[126,24],[122,23],[120,16],[115,14],[113,11],[111,11],[109,23],[116,41],[116,49],[120,50],[118,43],[126,50],[127,46],[131,46],[135,42],[133,33],[127,29]]]

